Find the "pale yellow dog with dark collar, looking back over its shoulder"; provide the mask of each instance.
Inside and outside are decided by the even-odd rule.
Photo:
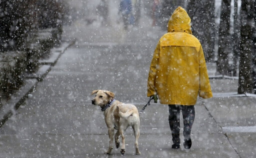
[[[121,154],[125,153],[125,137],[124,132],[132,126],[135,135],[135,149],[136,155],[139,152],[138,139],[139,139],[139,112],[135,105],[124,104],[120,101],[114,100],[115,94],[107,90],[94,90],[90,95],[96,94],[92,100],[92,104],[98,105],[104,111],[105,122],[109,132],[109,149],[105,154],[110,154],[113,149],[113,136],[114,129],[117,130],[115,134],[116,147],[120,147],[119,136],[122,138]]]

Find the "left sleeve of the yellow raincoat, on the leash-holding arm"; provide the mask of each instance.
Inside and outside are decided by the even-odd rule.
[[[155,89],[155,79],[156,79],[156,72],[159,60],[159,52],[160,52],[160,40],[154,50],[154,55],[151,61],[148,79],[147,79],[147,97],[151,97],[154,94],[157,94]]]

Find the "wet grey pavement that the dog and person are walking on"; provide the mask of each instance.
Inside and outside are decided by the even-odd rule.
[[[0,158],[120,157],[120,149],[104,154],[107,127],[100,108],[91,105],[90,93],[110,90],[118,101],[135,104],[139,110],[147,103],[149,65],[164,32],[145,19],[141,26],[124,31],[119,26],[102,28],[78,21],[65,27],[64,38],[76,38],[77,43],[62,54],[32,96],[2,126]],[[214,71],[214,66],[209,68]],[[236,92],[237,81],[216,79],[211,86],[215,94]],[[256,133],[222,130],[256,126],[255,103],[256,98],[248,97],[198,98],[189,150],[182,143],[181,149],[171,149],[168,106],[152,103],[140,117],[141,155],[135,155],[135,138],[128,128],[124,156],[255,158]]]

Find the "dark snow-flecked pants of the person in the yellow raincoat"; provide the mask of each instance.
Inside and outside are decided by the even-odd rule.
[[[184,139],[190,139],[192,125],[195,119],[194,105],[169,105],[169,125],[172,131],[173,144],[180,144],[180,112],[183,116]]]

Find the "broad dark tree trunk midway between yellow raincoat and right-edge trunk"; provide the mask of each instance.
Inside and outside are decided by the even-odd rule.
[[[216,75],[231,75],[228,54],[230,52],[230,2],[222,0],[219,25],[218,61]]]

